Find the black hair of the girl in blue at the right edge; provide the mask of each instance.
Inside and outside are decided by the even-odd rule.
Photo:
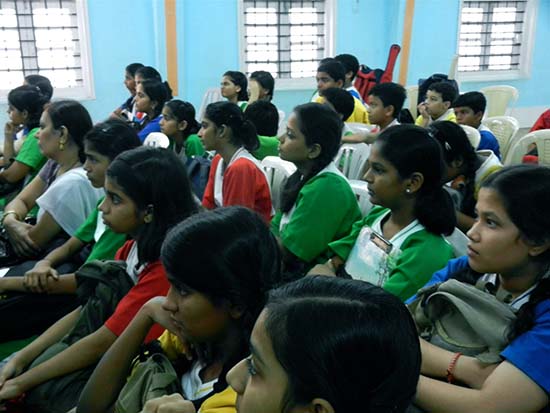
[[[550,168],[537,165],[514,165],[489,175],[481,188],[494,190],[506,213],[519,229],[525,241],[531,245],[550,242],[550,215],[546,207],[550,203]],[[535,325],[537,305],[550,299],[550,250],[533,258],[539,263],[541,273],[538,284],[531,292],[510,328],[508,338],[514,340]]]

